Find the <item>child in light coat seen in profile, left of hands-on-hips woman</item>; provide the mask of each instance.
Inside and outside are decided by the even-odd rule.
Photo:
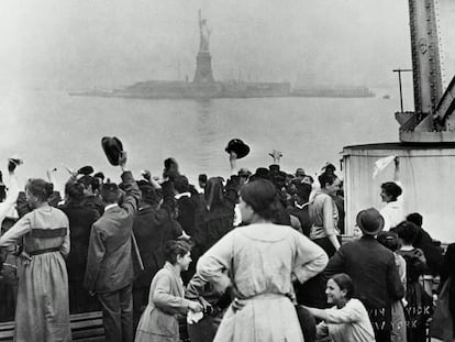
[[[184,298],[184,283],[180,273],[191,263],[190,245],[185,241],[166,242],[166,264],[152,280],[148,305],[137,326],[135,342],[180,341],[178,315],[188,310],[202,311],[202,305]]]

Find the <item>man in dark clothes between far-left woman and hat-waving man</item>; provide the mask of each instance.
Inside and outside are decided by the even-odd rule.
[[[89,297],[84,289],[84,276],[87,267],[87,253],[91,225],[100,218],[99,212],[82,206],[84,186],[68,181],[65,186],[67,201],[59,209],[69,220],[71,250],[66,260],[69,283],[69,310],[71,313],[99,310],[98,300]]]

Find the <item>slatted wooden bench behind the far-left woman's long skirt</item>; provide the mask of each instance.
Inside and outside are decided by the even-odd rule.
[[[104,342],[101,311],[71,315],[73,341]],[[0,342],[13,340],[14,322],[0,323]]]

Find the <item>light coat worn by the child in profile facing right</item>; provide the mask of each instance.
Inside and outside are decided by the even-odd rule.
[[[184,284],[175,267],[166,262],[152,280],[148,305],[137,326],[135,342],[178,342],[178,315],[188,311]]]

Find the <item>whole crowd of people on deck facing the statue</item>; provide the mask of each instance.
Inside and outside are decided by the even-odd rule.
[[[199,189],[174,158],[135,179],[119,148],[107,152],[119,185],[85,166],[69,169],[64,194],[55,170],[21,190],[22,161],[10,158],[0,321],[14,320],[14,341],[70,341],[70,313],[99,310],[113,342],[179,341],[182,321],[191,342],[425,341],[443,291],[453,313],[443,330],[455,338],[455,244],[444,255],[422,216],[403,212],[398,179],[342,241],[333,164],[315,181],[284,172],[274,151],[253,174],[237,169],[247,146],[228,147],[229,177],[201,174]],[[398,158],[395,168],[398,178]]]

